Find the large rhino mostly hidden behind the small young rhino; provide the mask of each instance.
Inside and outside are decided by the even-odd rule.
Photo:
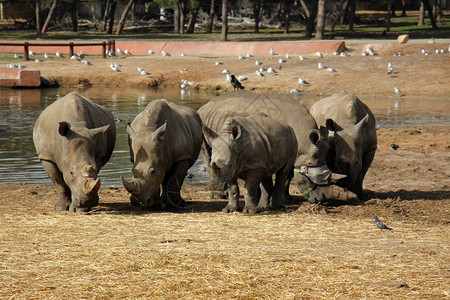
[[[198,110],[198,113],[203,124],[216,132],[221,129],[227,117],[266,114],[274,120],[288,124],[294,130],[298,145],[295,166],[326,164],[328,147],[326,128],[319,130],[308,109],[290,96],[255,94],[240,90],[210,100]],[[210,144],[203,145],[201,156],[206,164],[210,163]],[[313,180],[323,182],[324,178],[331,177],[331,172],[326,165],[322,168],[320,172],[310,174]],[[294,175],[291,174],[290,179],[292,176]],[[306,176],[298,173],[295,173],[295,182],[301,192],[314,186],[314,183],[311,183]],[[210,185],[212,189],[220,190],[214,174],[210,174]],[[311,203],[325,200],[325,195],[320,188],[314,188],[306,197]]]

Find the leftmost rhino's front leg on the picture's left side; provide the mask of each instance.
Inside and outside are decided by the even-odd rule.
[[[56,187],[56,191],[58,193],[58,201],[55,202],[53,207],[56,210],[68,210],[71,201],[71,191],[69,186],[64,181],[63,174],[56,166],[55,163],[48,160],[41,160],[42,167],[44,168],[45,173],[47,173],[48,177],[52,180],[53,184]]]

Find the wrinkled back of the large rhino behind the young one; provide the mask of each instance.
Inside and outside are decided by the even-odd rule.
[[[287,95],[264,95],[240,90],[210,100],[198,113],[203,123],[214,131],[220,129],[227,117],[264,113],[291,126],[299,147],[306,141],[305,133],[317,129],[316,121],[308,109]]]

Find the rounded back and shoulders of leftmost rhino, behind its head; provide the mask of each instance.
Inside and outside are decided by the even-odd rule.
[[[116,137],[114,117],[106,108],[76,92],[56,100],[39,115],[33,129],[33,140],[40,159],[56,163],[61,159],[64,137],[58,133],[60,122],[88,129],[111,124],[106,135],[99,137],[101,141],[97,141],[99,147],[96,147],[97,156],[102,156],[101,165],[109,160]]]

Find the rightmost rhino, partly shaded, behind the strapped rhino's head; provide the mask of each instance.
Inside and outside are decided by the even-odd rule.
[[[316,102],[311,114],[329,130],[328,166],[347,175],[337,185],[365,199],[363,180],[377,148],[372,112],[356,96],[341,92]]]

